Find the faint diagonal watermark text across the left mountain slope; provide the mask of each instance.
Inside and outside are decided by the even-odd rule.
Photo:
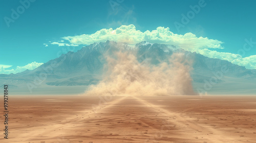
[[[53,74],[53,69],[57,68],[63,61],[65,61],[67,56],[70,54],[69,52],[74,50],[75,47],[73,46],[69,46],[67,49],[62,48],[57,52],[57,57],[61,59],[60,61],[57,62],[52,60],[48,62],[48,65],[41,65],[40,67],[43,69],[43,71],[40,71],[38,75],[34,76],[34,80],[32,82],[27,83],[29,91],[32,93],[33,88],[37,88],[39,85],[41,85],[47,79],[48,75]]]

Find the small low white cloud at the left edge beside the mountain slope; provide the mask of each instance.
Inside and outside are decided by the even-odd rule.
[[[16,74],[16,73],[25,71],[27,69],[33,70],[42,64],[44,64],[44,63],[32,62],[25,66],[17,66],[15,69],[6,69],[6,68],[11,67],[11,65],[0,65],[0,74],[11,74],[11,73]]]

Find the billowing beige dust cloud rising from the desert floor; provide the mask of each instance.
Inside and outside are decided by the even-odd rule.
[[[189,71],[191,61],[182,53],[174,53],[157,65],[148,59],[138,62],[131,52],[106,54],[103,80],[92,85],[91,96],[172,96],[195,95]]]

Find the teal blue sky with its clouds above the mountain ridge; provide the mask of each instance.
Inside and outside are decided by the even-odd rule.
[[[24,2],[26,8],[20,2]],[[102,38],[96,32],[103,29],[104,32],[113,33],[122,26],[122,35],[135,33],[133,38],[150,35],[147,40],[151,42],[177,44],[185,50],[210,58],[256,68],[255,6],[256,1],[4,0],[0,2],[0,73],[33,69],[58,57],[59,53],[66,53],[70,49],[77,51],[93,41],[109,38],[118,41],[117,37],[111,37],[113,35]],[[199,7],[200,10],[193,11],[191,7]],[[12,10],[20,13],[18,16],[14,14],[14,19]],[[188,22],[182,22],[182,14],[186,17],[190,14]],[[182,27],[177,28],[177,23]],[[146,33],[147,30],[150,33]],[[176,35],[154,40],[154,30],[160,35],[166,31]],[[90,36],[95,33],[98,39],[92,40]],[[184,43],[186,37],[190,38],[188,43]],[[79,38],[83,39],[77,42]],[[196,44],[188,47],[191,41]],[[133,42],[137,41],[131,44]],[[244,45],[246,49],[243,49]]]

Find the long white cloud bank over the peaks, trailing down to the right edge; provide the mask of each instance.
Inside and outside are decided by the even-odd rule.
[[[169,28],[158,27],[153,31],[139,31],[134,25],[121,26],[115,30],[101,29],[93,34],[82,34],[77,36],[62,37],[71,44],[91,44],[94,42],[105,42],[106,40],[125,42],[127,44],[136,44],[141,41],[150,41],[152,43],[162,43],[168,45],[178,45],[182,49],[197,52],[209,58],[219,58],[231,63],[245,66],[249,69],[256,68],[256,55],[242,58],[241,55],[232,53],[223,53],[209,49],[223,49],[222,41],[209,39],[207,37],[197,37],[193,33],[184,35],[174,34]],[[61,45],[59,45],[61,46]]]

